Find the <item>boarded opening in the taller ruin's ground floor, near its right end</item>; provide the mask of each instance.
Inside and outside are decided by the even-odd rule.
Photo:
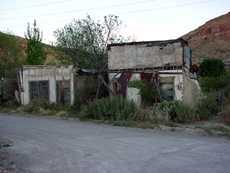
[[[160,78],[160,93],[163,100],[172,101],[175,97],[174,77]]]

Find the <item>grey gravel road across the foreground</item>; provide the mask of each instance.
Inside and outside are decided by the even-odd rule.
[[[0,136],[32,173],[229,173],[230,140],[0,114]]]

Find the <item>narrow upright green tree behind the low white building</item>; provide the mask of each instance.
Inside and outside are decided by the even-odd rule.
[[[32,27],[30,27],[30,23],[28,23],[25,37],[27,39],[27,64],[43,64],[45,54],[42,45],[42,32],[37,27],[36,20],[34,20]]]

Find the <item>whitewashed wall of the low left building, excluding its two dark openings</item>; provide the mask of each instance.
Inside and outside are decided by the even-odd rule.
[[[24,66],[21,76],[21,103],[30,103],[29,82],[48,81],[49,101],[56,103],[56,81],[70,81],[70,103],[74,103],[74,73],[73,66]]]

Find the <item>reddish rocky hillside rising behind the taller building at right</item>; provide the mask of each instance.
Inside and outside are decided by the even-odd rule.
[[[193,49],[193,62],[203,58],[230,61],[230,12],[183,36]]]

